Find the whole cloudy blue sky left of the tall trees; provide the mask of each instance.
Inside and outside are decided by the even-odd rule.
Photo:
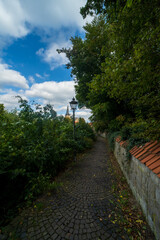
[[[71,36],[84,37],[79,10],[85,0],[0,0],[0,103],[18,107],[16,95],[65,114],[75,96],[74,81],[65,68]],[[89,109],[79,109],[86,120]]]

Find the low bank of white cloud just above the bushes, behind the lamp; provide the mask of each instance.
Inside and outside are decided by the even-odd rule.
[[[15,96],[20,95],[23,99],[28,101],[35,100],[42,106],[50,103],[54,106],[58,115],[65,115],[67,105],[72,100],[75,95],[74,92],[74,82],[44,82],[33,84],[30,89],[19,91],[13,91],[11,89],[0,89],[0,103],[3,103],[5,108],[12,110],[15,107],[18,108],[18,99]],[[69,107],[70,114],[72,115],[72,110]],[[77,109],[76,117],[82,117],[86,121],[91,116],[90,109]]]

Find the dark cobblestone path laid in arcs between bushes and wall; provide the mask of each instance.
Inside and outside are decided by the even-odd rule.
[[[63,185],[56,193],[41,197],[14,219],[6,239],[129,239],[111,217],[116,198],[108,157],[105,140],[98,138],[91,150],[58,177]]]

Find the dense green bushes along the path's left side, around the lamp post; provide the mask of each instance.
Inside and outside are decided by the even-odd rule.
[[[8,113],[0,105],[0,222],[21,202],[30,203],[54,188],[51,180],[73,159],[74,150],[90,147],[95,138],[80,119],[74,141],[70,119],[56,117],[51,105],[32,107],[18,99],[19,113]]]

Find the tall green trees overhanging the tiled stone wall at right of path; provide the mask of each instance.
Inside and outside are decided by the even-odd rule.
[[[159,1],[87,0],[81,14],[98,16],[84,26],[84,40],[72,38],[73,48],[62,52],[95,129],[118,131],[125,125],[137,141],[160,139]]]

